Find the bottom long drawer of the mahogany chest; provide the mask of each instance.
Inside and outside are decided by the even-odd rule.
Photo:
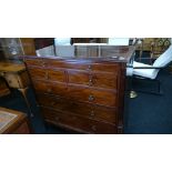
[[[113,134],[117,133],[115,125],[98,122],[90,119],[83,119],[69,113],[61,113],[50,109],[42,109],[47,122],[51,122],[59,127],[64,127],[71,130],[80,131],[83,133],[99,133],[99,134]]]

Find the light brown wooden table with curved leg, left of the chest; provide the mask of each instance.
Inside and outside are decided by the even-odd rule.
[[[0,62],[0,75],[6,79],[10,88],[18,89],[27,103],[30,111],[30,115],[33,117],[30,103],[27,98],[27,91],[29,88],[29,77],[23,64],[12,62]]]

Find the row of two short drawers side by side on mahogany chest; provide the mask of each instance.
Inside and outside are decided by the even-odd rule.
[[[88,72],[78,70],[29,68],[33,79],[68,82],[89,87],[118,89],[118,74],[104,72]]]

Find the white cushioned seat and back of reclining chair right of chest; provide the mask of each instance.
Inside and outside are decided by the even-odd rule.
[[[152,65],[133,61],[133,63],[129,64],[127,68],[127,75],[136,77],[141,79],[155,80],[159,71],[168,67],[171,62],[172,62],[172,45],[170,45],[168,50],[163,52],[154,61]],[[159,84],[159,93],[160,93],[160,84]]]

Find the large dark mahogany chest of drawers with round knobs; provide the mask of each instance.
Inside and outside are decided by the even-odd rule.
[[[110,58],[23,57],[44,121],[79,133],[122,133],[132,53],[128,48]]]

